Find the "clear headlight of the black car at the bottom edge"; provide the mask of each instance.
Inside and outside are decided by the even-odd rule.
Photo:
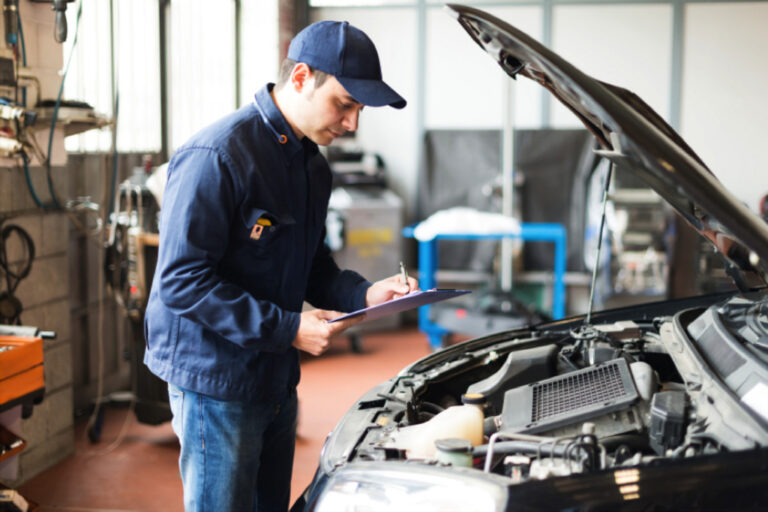
[[[384,467],[386,466],[386,467]],[[496,475],[477,470],[411,463],[370,463],[333,475],[317,500],[317,512],[497,512],[507,501]]]

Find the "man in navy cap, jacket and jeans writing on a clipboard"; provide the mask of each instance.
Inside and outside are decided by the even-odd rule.
[[[279,83],[193,136],[168,166],[145,363],[168,382],[187,510],[286,510],[299,350],[321,354],[354,321],[339,311],[416,288],[341,271],[323,241],[331,192],[317,144],[364,105],[405,100],[371,40],[310,25]],[[306,300],[318,309],[301,313]]]

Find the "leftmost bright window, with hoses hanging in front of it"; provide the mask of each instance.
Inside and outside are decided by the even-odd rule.
[[[119,93],[117,149],[159,151],[160,52],[157,0],[113,2],[115,86]],[[77,8],[67,9],[69,37],[63,45],[64,64],[72,51]],[[84,0],[62,99],[84,101],[96,112],[113,117],[109,2]],[[90,130],[66,139],[72,152],[108,151],[109,129]]]

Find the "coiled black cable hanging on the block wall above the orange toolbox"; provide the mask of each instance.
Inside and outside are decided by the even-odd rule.
[[[2,225],[2,222],[0,222]],[[21,247],[21,260],[15,263],[9,260],[8,241],[16,235]],[[16,298],[19,283],[29,275],[32,262],[35,259],[35,243],[23,228],[16,224],[8,224],[0,229],[0,270],[5,278],[6,289],[0,292],[0,323],[21,325],[21,313],[24,308]]]

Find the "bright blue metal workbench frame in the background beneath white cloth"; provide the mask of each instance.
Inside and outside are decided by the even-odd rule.
[[[418,224],[403,228],[403,236],[415,238]],[[435,273],[438,269],[437,243],[440,240],[501,240],[504,238],[520,239],[529,242],[552,242],[555,244],[554,279],[552,285],[552,318],[559,320],[565,316],[565,267],[566,267],[566,231],[561,224],[521,223],[520,231],[494,233],[444,233],[430,240],[418,240],[419,243],[419,287],[429,290],[436,287]],[[419,308],[419,329],[429,338],[433,350],[442,346],[443,337],[450,331],[432,322],[431,306]]]

